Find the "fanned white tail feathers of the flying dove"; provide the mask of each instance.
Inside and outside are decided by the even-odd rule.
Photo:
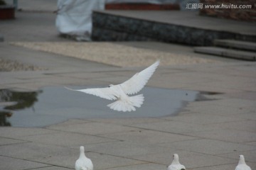
[[[140,106],[142,106],[143,101],[144,101],[143,94],[139,94],[137,96],[129,97],[129,101],[118,100],[118,101],[115,101],[114,103],[110,103],[107,106],[113,109],[114,111],[130,112],[130,111],[136,111],[135,107],[139,108]]]

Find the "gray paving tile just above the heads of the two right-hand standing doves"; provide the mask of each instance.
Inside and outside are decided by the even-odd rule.
[[[225,154],[236,153],[241,151],[250,151],[256,149],[255,146],[243,145],[233,142],[223,142],[218,140],[188,140],[180,142],[166,142],[160,146],[183,149],[191,152],[202,154]]]

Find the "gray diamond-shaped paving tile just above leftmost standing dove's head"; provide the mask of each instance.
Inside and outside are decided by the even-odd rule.
[[[74,132],[56,132],[43,135],[31,135],[23,137],[23,140],[63,147],[80,147],[81,145],[114,141],[107,137],[96,137],[84,134],[80,135]]]

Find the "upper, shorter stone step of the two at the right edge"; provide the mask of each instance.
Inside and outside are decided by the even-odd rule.
[[[235,48],[241,50],[250,50],[256,52],[256,43],[240,40],[214,40],[215,46]]]

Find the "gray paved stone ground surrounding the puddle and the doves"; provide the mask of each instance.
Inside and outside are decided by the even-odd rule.
[[[10,24],[16,26],[15,22]],[[43,28],[38,28],[39,33],[40,30]],[[28,39],[40,40],[35,35],[29,34]],[[18,41],[23,40],[23,35],[16,36]],[[171,52],[162,49],[165,45],[156,44],[154,47],[159,50]],[[131,45],[150,47],[142,42]],[[8,42],[1,43],[0,49],[1,59],[47,68],[0,72],[0,89],[26,91],[42,86],[106,85],[122,82],[142,69],[113,67],[16,47]],[[179,49],[190,51],[190,47],[179,46]],[[72,119],[44,128],[1,127],[0,169],[74,169],[80,145],[85,146],[95,169],[166,169],[174,153],[179,154],[187,169],[235,169],[239,154],[244,154],[247,164],[256,169],[256,64],[219,61],[161,66],[156,70],[148,86],[214,92],[206,95],[212,100],[188,103],[177,115]]]

